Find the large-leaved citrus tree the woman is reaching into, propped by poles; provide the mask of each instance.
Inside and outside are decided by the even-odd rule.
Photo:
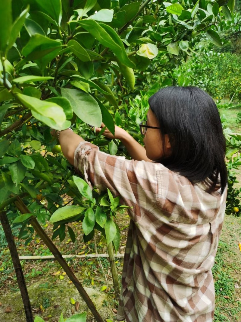
[[[1,221],[6,215],[13,219],[26,245],[36,230],[66,270],[38,222],[51,217],[53,239],[62,241],[68,233],[74,242],[68,223],[83,221],[85,241],[97,229],[108,250],[113,252],[113,245],[117,251],[119,198],[91,191],[74,175],[50,128],[72,125],[104,151],[125,154],[115,140],[101,133],[96,137],[86,123],[99,127],[103,121],[114,133],[114,120],[121,125],[121,115],[129,115],[125,126],[141,141],[137,129],[147,96],[172,83],[173,69],[192,55],[195,43],[205,38],[222,45],[219,31],[232,19],[233,8],[234,0],[1,1]],[[179,84],[185,85],[182,77]],[[139,93],[144,103],[137,97],[138,111],[130,97]]]

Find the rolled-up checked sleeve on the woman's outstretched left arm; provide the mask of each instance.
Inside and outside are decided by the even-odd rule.
[[[129,215],[134,221],[156,203],[155,163],[112,156],[82,141],[75,150],[74,166],[91,188],[96,186],[102,191],[108,188],[114,196],[121,197],[121,204],[133,207]]]

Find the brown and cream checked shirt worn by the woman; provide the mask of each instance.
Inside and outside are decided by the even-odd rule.
[[[211,268],[227,192],[209,193],[159,163],[126,160],[82,142],[75,169],[90,186],[121,196],[130,220],[119,321],[211,322]]]

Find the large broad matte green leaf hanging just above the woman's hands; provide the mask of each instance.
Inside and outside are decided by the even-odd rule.
[[[83,122],[98,128],[101,126],[102,115],[100,107],[90,94],[69,88],[61,88],[61,94],[70,101],[75,114]]]

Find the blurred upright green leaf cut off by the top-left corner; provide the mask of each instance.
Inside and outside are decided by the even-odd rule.
[[[12,0],[0,1],[0,51],[4,53],[12,29]]]

